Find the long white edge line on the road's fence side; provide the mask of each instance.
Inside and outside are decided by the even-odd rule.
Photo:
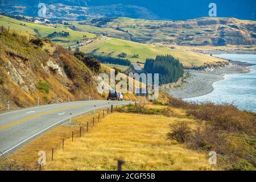
[[[115,105],[122,105],[122,104],[115,104]],[[124,105],[124,104],[123,104],[123,105]],[[114,106],[114,105],[113,105],[113,106]],[[96,107],[96,108],[94,108],[94,109],[101,109],[101,108],[103,108],[103,107],[108,107],[108,106]],[[73,115],[73,117],[76,117],[77,115],[81,115],[81,114],[84,114],[84,113],[88,113],[89,111],[92,111],[92,110],[94,110],[94,109],[90,109],[90,110],[85,111],[85,112],[82,112],[82,113],[80,113],[80,114]],[[69,118],[70,118],[70,117],[69,117]],[[57,124],[59,124],[59,123],[61,123],[61,122],[66,121],[66,120],[69,119],[69,118],[65,118],[65,119],[63,119],[63,120],[61,120],[61,121],[58,121],[58,122],[54,123],[53,125],[47,127],[46,129],[40,131],[39,133],[36,133],[36,134],[32,135],[31,137],[29,137],[29,138],[23,140],[22,142],[16,144],[14,147],[11,147],[9,150],[7,150],[7,151],[3,152],[2,154],[0,154],[0,157],[1,157],[2,155],[5,155],[7,152],[13,150],[14,148],[20,146],[20,144],[23,144],[23,143],[27,142],[27,140],[30,140],[31,138],[34,138],[36,135],[39,135],[39,134],[43,133],[44,131],[50,129],[51,127],[53,127],[53,126],[55,126],[55,125],[57,125]]]

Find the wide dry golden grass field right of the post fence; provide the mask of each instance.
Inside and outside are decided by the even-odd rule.
[[[167,140],[169,124],[176,120],[163,115],[108,115],[84,137],[73,143],[67,140],[64,151],[56,151],[53,162],[43,169],[116,170],[117,159],[125,160],[124,170],[213,169],[204,154]],[[195,123],[192,119],[179,121]]]

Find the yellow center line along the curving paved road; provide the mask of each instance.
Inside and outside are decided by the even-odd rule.
[[[6,129],[7,127],[14,126],[14,125],[16,125],[16,124],[18,124],[18,123],[27,121],[28,119],[40,117],[40,116],[42,116],[42,115],[54,113],[54,112],[56,112],[56,111],[65,110],[65,109],[71,109],[71,108],[81,107],[81,106],[88,106],[88,105],[93,105],[93,104],[97,104],[97,103],[98,103],[98,102],[94,102],[94,103],[90,103],[90,104],[81,104],[81,105],[76,105],[76,106],[69,106],[69,107],[61,107],[61,108],[59,108],[59,109],[47,111],[47,112],[40,113],[40,114],[31,115],[30,117],[23,118],[23,119],[19,119],[18,121],[14,121],[14,122],[12,122],[12,123],[9,123],[8,125],[2,126],[2,127],[0,127],[0,130],[4,130],[4,129]]]

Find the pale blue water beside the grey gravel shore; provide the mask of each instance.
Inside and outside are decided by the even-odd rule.
[[[256,55],[213,55],[224,59],[256,64]],[[256,112],[256,65],[251,73],[225,75],[225,79],[213,83],[213,92],[200,97],[187,98],[190,102],[233,104],[241,110]]]

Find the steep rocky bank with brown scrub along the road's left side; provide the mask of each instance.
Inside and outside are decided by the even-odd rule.
[[[44,42],[40,48],[27,38],[0,33],[0,110],[101,98],[96,75],[67,49]]]

